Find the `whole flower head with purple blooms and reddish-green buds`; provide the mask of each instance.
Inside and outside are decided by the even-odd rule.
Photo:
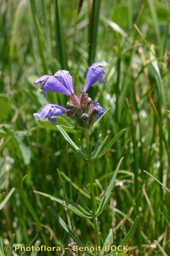
[[[81,127],[89,129],[94,122],[94,118],[99,118],[105,111],[104,108],[100,107],[98,102],[92,101],[88,97],[86,91],[96,81],[104,83],[102,75],[105,74],[105,70],[100,67],[106,65],[107,63],[105,61],[96,62],[88,69],[84,90],[81,91],[80,98],[74,93],[73,79],[67,70],[59,70],[54,76],[44,75],[35,80],[35,85],[43,82],[41,89],[44,91],[44,97],[46,97],[48,90],[68,95],[69,101],[67,102],[67,107],[69,109],[54,104],[47,104],[38,113],[34,113],[33,115],[37,119],[48,117],[48,120],[52,124],[56,124],[56,119],[52,118],[52,116],[60,116],[66,113],[76,120]]]

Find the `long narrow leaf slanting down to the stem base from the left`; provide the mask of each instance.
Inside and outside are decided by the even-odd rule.
[[[55,216],[55,219],[62,225],[64,230],[69,234],[69,236],[79,245],[85,247],[85,245],[80,241],[80,239],[73,233],[73,231],[66,225],[63,219],[50,207],[48,206],[50,212]],[[96,255],[92,252],[87,252],[89,255]]]

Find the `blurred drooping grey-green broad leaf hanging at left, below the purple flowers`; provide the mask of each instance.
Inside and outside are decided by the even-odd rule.
[[[16,136],[17,136],[17,139],[19,142],[19,148],[21,150],[21,153],[22,153],[22,156],[24,159],[24,163],[29,164],[30,159],[31,159],[31,149],[30,149],[30,145],[28,143],[28,138],[25,135],[25,133],[22,131],[17,131]]]

